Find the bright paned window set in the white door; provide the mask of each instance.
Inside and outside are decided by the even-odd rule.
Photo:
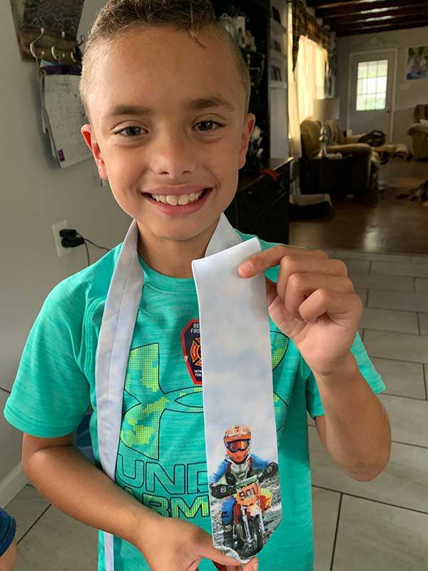
[[[385,108],[387,79],[387,59],[360,61],[357,72],[357,111]]]

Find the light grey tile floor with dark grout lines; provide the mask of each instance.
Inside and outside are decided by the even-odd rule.
[[[384,377],[392,454],[372,482],[342,474],[310,423],[315,571],[423,571],[428,561],[428,256],[330,252],[347,263],[365,304],[360,333]],[[96,530],[26,485],[16,571],[96,569]],[[282,571],[282,570],[280,570]],[[289,570],[293,571],[293,570]]]

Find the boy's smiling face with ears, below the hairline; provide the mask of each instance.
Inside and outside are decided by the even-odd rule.
[[[245,115],[233,54],[210,29],[198,38],[208,47],[187,31],[136,27],[96,54],[86,101],[91,125],[82,134],[100,176],[143,237],[209,237],[245,164],[255,116]],[[214,96],[225,105],[195,106]],[[185,206],[153,200],[148,192],[167,187],[155,194],[180,201],[183,189],[172,187],[183,185],[211,190]]]

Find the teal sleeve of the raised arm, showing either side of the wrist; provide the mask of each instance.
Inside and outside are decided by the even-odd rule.
[[[360,373],[367,380],[373,392],[378,394],[382,393],[386,389],[386,386],[382,380],[381,375],[374,368],[372,361],[367,355],[365,346],[362,344],[360,333],[355,336],[355,341],[352,344],[351,351],[357,361]],[[315,377],[310,370],[310,368],[305,363],[305,369],[307,370],[306,379],[306,407],[307,412],[312,418],[316,416],[324,415],[324,409],[322,408],[321,397],[318,391],[317,382]]]

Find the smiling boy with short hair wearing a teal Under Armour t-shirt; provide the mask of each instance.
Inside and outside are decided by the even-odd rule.
[[[25,433],[27,477],[63,512],[106,532],[99,534],[99,571],[205,571],[213,568],[206,560],[223,570],[240,567],[208,533],[200,383],[180,343],[198,322],[191,261],[205,255],[224,223],[255,125],[247,113],[248,70],[222,30],[208,0],[111,0],[83,59],[90,124],[82,134],[138,227],[132,271],[144,278],[143,294],[131,290],[126,298],[126,310],[139,304],[132,327],[125,330],[115,311],[103,315],[109,284],[119,278],[128,285],[120,264],[121,247],[133,244],[130,228],[123,246],[49,293],[4,414]],[[319,251],[260,243],[263,252],[240,275],[270,277],[284,509],[260,552],[260,569],[308,571],[306,409],[332,458],[357,480],[370,480],[389,459],[389,423],[374,394],[384,384],[356,335],[362,308],[345,265]],[[98,343],[108,331],[118,336],[113,349]],[[127,335],[123,371],[117,359]],[[100,370],[113,375],[111,384],[103,384]],[[95,466],[74,446],[89,404]],[[116,430],[117,445],[104,445]],[[104,463],[111,473],[100,469]],[[254,559],[244,569],[257,567]]]

